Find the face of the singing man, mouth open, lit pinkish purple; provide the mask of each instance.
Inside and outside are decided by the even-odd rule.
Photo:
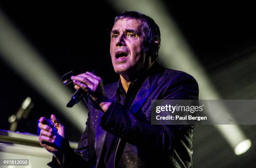
[[[120,19],[110,33],[110,55],[116,73],[134,74],[143,68],[146,54],[143,53],[144,35],[138,19]]]

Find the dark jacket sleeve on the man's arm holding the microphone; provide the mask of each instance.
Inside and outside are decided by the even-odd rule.
[[[185,73],[177,75],[163,91],[161,98],[167,99],[197,99],[198,85],[195,79]],[[170,153],[175,141],[174,129],[186,130],[187,125],[172,127],[172,125],[151,125],[148,120],[138,120],[136,115],[123,105],[113,102],[101,117],[103,130],[106,130],[132,145],[141,148],[154,148],[162,153]],[[174,130],[175,131],[175,130]]]

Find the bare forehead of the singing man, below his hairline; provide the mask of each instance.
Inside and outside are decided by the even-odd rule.
[[[112,30],[119,30],[119,29],[139,30],[140,28],[141,28],[141,20],[134,19],[134,18],[123,18],[123,19],[119,19],[115,23]]]

